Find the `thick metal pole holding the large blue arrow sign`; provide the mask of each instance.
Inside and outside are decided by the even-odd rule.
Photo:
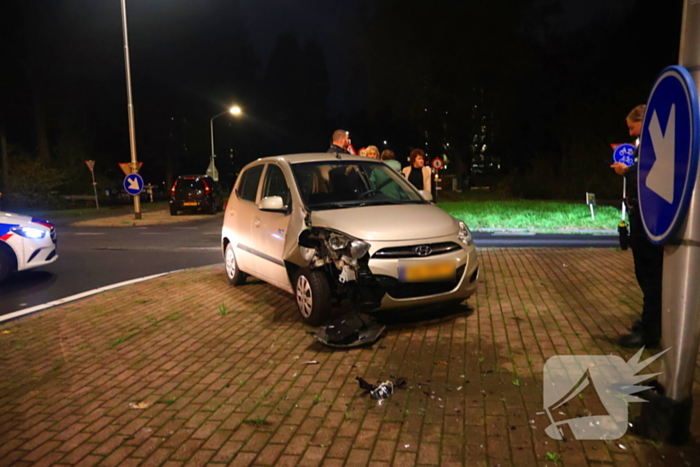
[[[700,3],[685,0],[680,65],[700,86]],[[647,112],[649,108],[647,107]],[[645,117],[646,121],[646,117]],[[697,122],[696,122],[697,124]],[[676,137],[679,137],[678,133]],[[697,172],[696,172],[697,173]],[[685,221],[664,244],[661,342],[664,349],[659,395],[650,394],[640,434],[671,444],[690,437],[693,373],[700,337],[700,178],[695,179]],[[641,190],[641,188],[640,188]]]

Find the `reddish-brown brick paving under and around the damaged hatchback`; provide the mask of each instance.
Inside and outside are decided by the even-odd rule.
[[[234,289],[221,266],[2,325],[0,465],[700,465],[695,440],[544,433],[547,358],[631,356],[610,340],[641,304],[629,252],[480,255],[471,309],[385,317],[386,337],[365,349],[315,343],[290,295]],[[409,388],[383,406],[354,380],[390,375]]]

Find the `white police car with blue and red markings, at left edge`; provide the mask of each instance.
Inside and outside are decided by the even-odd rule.
[[[44,266],[56,259],[53,224],[0,211],[0,282],[11,272]]]

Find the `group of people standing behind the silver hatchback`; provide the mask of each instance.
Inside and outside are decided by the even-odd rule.
[[[348,147],[350,146],[350,137],[345,130],[335,130],[331,139],[331,147],[328,148],[330,153],[350,154]],[[377,146],[367,146],[359,151],[360,156],[370,157],[384,161],[386,165],[401,172],[404,177],[417,189],[431,192],[430,181],[432,179],[430,167],[425,164],[425,151],[420,148],[413,149],[409,155],[410,165],[401,168],[401,163],[396,160],[396,154],[391,149],[385,149],[381,153]]]

